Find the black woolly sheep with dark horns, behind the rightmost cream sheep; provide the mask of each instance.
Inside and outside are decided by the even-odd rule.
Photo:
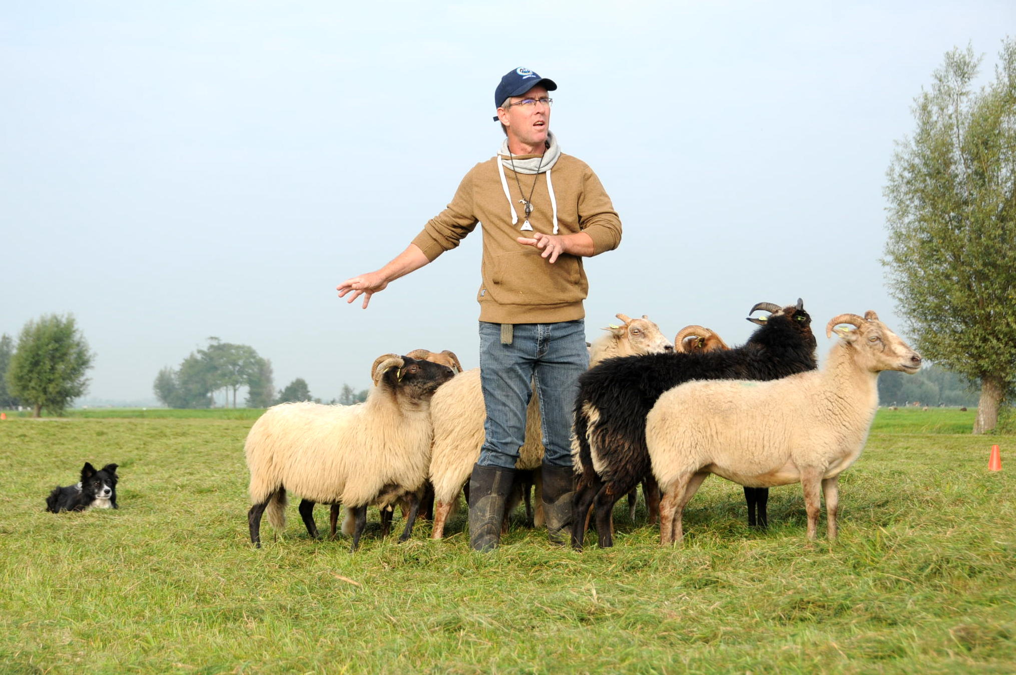
[[[815,336],[804,302],[780,308],[759,302],[771,313],[744,345],[729,350],[649,354],[604,361],[579,378],[575,401],[574,467],[578,474],[572,521],[572,546],[580,550],[590,508],[595,505],[601,548],[614,544],[615,502],[643,478],[655,492],[645,448],[645,415],[666,390],[691,380],[741,378],[775,380],[816,367]],[[766,524],[768,491],[745,490],[750,525]]]

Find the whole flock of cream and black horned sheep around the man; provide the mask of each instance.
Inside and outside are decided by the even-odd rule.
[[[649,524],[658,519],[660,543],[680,543],[684,508],[710,474],[744,486],[749,525],[761,528],[768,489],[801,483],[807,536],[817,536],[824,497],[827,536],[835,539],[837,479],[864,449],[878,408],[878,374],[916,373],[920,355],[874,312],[841,314],[826,326],[835,343],[818,369],[811,317],[801,299],[784,307],[758,302],[749,315],[757,311],[768,316],[750,316],[759,328],[733,348],[700,325],[685,327],[671,342],[648,317],[624,314],[589,345],[590,367],[579,380],[573,420],[573,548],[581,550],[590,525],[600,547],[613,545],[614,505],[627,495],[634,519],[639,484]],[[285,403],[251,427],[244,451],[255,547],[261,546],[262,516],[276,533],[284,529],[289,493],[301,497],[298,511],[315,539],[314,505],[330,504],[332,538],[344,505],[341,530],[353,550],[371,505],[381,515],[382,536],[396,508],[404,520],[400,541],[420,519],[433,520],[432,538],[444,536],[484,442],[480,370],[463,370],[448,350],[427,349],[382,354],[370,369],[374,386],[363,403]],[[544,525],[536,398],[504,529],[521,501],[527,524]]]

